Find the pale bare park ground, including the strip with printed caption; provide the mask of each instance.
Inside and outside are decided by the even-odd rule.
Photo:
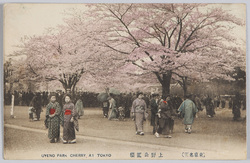
[[[85,108],[79,119],[76,144],[49,143],[40,121],[30,122],[28,107],[4,107],[5,159],[246,159],[246,111],[233,121],[232,110],[217,109],[216,116],[198,113],[191,134],[184,133],[182,120],[175,118],[171,139],[156,138],[150,121],[144,122],[144,136],[135,135],[134,121],[109,121],[101,108]],[[62,128],[61,128],[62,131]],[[62,134],[61,134],[62,135]]]

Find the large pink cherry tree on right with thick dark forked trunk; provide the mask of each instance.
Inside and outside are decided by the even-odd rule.
[[[164,95],[170,92],[173,74],[184,79],[194,72],[198,79],[220,76],[224,70],[232,70],[233,64],[228,63],[242,58],[232,48],[236,39],[228,31],[244,24],[222,8],[206,4],[89,6],[91,16],[100,23],[98,38],[103,46],[153,73]]]

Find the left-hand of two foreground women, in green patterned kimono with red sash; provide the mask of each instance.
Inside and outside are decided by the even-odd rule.
[[[56,102],[56,95],[51,94],[50,103],[46,109],[45,126],[48,128],[48,137],[50,143],[59,141],[60,137],[60,124],[62,124],[62,110],[58,102]]]

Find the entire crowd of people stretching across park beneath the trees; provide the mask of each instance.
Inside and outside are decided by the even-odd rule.
[[[9,94],[9,93],[8,93]],[[5,104],[10,104],[9,95],[5,96]],[[233,120],[241,117],[241,107],[245,108],[245,98],[239,93],[229,99],[220,99],[198,95],[187,95],[184,99],[179,96],[159,94],[143,94],[142,92],[119,94],[110,93],[105,101],[98,101],[94,93],[47,93],[47,92],[14,92],[15,104],[29,106],[30,121],[39,121],[42,107],[46,106],[45,126],[51,143],[59,141],[60,125],[63,127],[63,143],[76,143],[75,130],[79,131],[78,119],[84,115],[84,107],[102,105],[103,117],[108,120],[132,118],[135,123],[136,135],[144,135],[143,123],[151,112],[150,122],[156,137],[163,135],[171,138],[174,129],[174,117],[183,118],[185,132],[191,133],[192,124],[198,111],[206,110],[209,118],[215,116],[215,109],[232,108]],[[86,97],[89,101],[86,101]],[[223,102],[224,101],[224,102]],[[86,103],[88,104],[86,104]]]

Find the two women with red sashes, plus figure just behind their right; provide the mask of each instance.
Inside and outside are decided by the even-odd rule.
[[[83,113],[79,110],[83,106],[79,100],[74,105],[69,94],[64,96],[64,100],[63,107],[61,107],[57,102],[56,94],[51,94],[50,102],[46,107],[46,119],[44,122],[46,128],[48,128],[48,137],[51,143],[60,140],[60,125],[63,127],[63,143],[76,143],[75,130],[79,131],[79,113]]]

